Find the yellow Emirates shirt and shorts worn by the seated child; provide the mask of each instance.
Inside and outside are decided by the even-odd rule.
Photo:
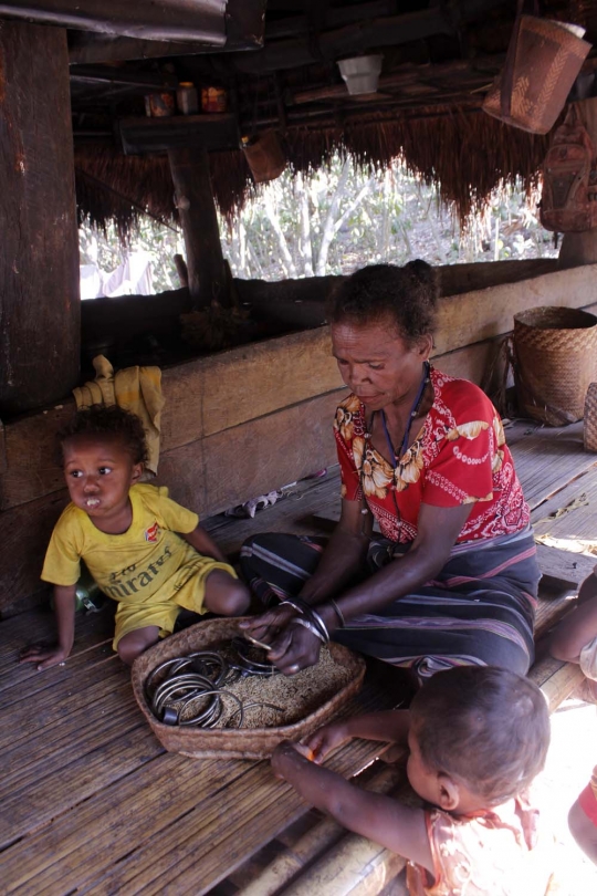
[[[205,585],[213,570],[232,566],[197,553],[177,532],[192,532],[199,517],[147,483],[129,491],[133,522],[122,535],[102,532],[73,503],[54,527],[42,570],[44,582],[74,585],[81,560],[104,594],[118,602],[114,648],[123,635],[148,625],[174,631],[180,607],[203,613]]]

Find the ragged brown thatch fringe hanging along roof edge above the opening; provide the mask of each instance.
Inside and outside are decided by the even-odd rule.
[[[501,181],[519,178],[536,187],[547,137],[507,127],[481,111],[450,108],[443,115],[395,121],[356,121],[339,128],[295,128],[282,135],[289,163],[307,173],[335,153],[350,155],[363,168],[384,168],[402,157],[408,168],[438,187],[442,200],[465,222]],[[210,154],[218,208],[232,219],[254,194],[242,150]],[[80,220],[104,228],[116,223],[123,240],[139,216],[176,220],[174,187],[166,155],[125,156],[116,148],[80,146],[75,150]]]

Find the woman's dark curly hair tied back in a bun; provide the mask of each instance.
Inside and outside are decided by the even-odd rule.
[[[331,323],[357,326],[388,317],[407,342],[432,335],[439,286],[436,270],[426,261],[371,264],[343,280],[329,296]]]

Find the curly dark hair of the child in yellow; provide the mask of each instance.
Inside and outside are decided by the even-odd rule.
[[[94,436],[98,440],[118,439],[134,463],[145,463],[147,460],[147,441],[140,419],[118,405],[92,405],[77,410],[59,433],[61,446],[76,436]]]

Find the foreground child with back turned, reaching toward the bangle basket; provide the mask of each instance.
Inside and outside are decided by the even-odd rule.
[[[354,737],[408,746],[407,775],[423,809],[320,768]],[[547,707],[534,684],[467,666],[434,675],[410,710],[333,722],[304,744],[281,743],[272,767],[308,803],[409,859],[410,894],[543,896],[549,871],[526,791],[548,744]]]

